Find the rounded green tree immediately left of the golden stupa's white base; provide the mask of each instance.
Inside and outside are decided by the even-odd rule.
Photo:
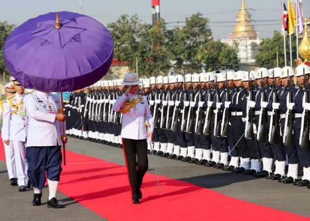
[[[229,46],[220,41],[209,41],[195,56],[196,63],[207,65],[207,71],[215,69],[235,69],[239,63],[237,45]],[[227,65],[230,64],[230,65]]]

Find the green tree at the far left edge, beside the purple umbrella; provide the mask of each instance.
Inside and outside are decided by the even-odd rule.
[[[15,27],[16,27],[15,25],[9,25],[6,21],[0,22],[0,75],[3,76],[3,81],[4,81],[4,76],[7,76],[7,77],[9,76],[8,75],[9,71],[6,68],[4,59],[3,59],[4,42]]]

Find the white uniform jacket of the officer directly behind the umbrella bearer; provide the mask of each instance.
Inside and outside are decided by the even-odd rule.
[[[3,140],[26,141],[28,117],[19,115],[19,106],[23,105],[26,94],[16,93],[13,97],[6,99],[3,104]]]

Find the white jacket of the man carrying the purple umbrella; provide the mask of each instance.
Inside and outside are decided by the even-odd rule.
[[[27,95],[24,102],[29,117],[26,146],[62,145],[62,122],[56,120],[56,113],[61,110],[60,99],[37,91]]]

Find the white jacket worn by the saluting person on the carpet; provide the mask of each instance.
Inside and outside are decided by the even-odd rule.
[[[112,106],[113,111],[120,111],[125,107],[124,102],[129,102],[132,99],[137,99],[141,95],[130,94],[128,97],[123,94]],[[127,113],[123,114],[122,120],[122,138],[128,139],[146,139],[147,129],[145,126],[145,120],[150,124],[150,131],[153,132],[154,124],[153,117],[150,111],[149,103],[145,96],[142,96],[141,102],[139,102],[135,107],[131,108]]]

